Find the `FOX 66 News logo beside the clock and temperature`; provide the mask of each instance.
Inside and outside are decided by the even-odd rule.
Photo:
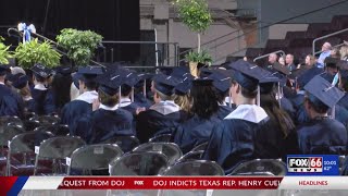
[[[288,172],[323,172],[323,157],[288,157]]]

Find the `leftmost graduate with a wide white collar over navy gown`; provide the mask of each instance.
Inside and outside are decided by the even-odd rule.
[[[77,76],[80,95],[66,103],[61,111],[61,124],[69,125],[71,135],[75,135],[76,122],[92,111],[92,102],[98,99],[96,77],[103,73],[100,66],[79,68]]]

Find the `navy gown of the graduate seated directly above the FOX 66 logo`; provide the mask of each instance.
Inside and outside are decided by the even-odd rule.
[[[303,155],[345,155],[347,130],[333,119],[316,119],[298,128],[300,152]]]

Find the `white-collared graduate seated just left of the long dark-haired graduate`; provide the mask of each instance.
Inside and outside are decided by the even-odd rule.
[[[181,111],[173,100],[174,87],[178,79],[173,76],[158,74],[152,82],[154,105],[136,117],[137,137],[146,143],[157,134],[170,134],[186,119],[187,113]]]

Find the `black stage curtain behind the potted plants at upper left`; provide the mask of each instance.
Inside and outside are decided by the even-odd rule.
[[[33,23],[38,33],[54,38],[62,28],[91,29],[104,40],[139,40],[139,0],[1,0],[0,26]],[[45,30],[45,32],[44,32]],[[109,45],[108,47],[112,47]],[[138,45],[114,47],[115,61],[136,61]]]

